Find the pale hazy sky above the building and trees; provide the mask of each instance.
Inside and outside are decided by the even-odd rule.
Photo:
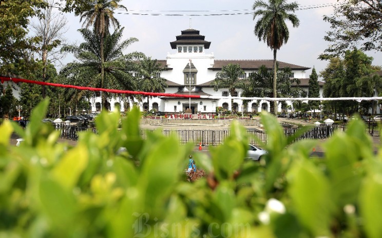
[[[343,0],[340,0],[342,2]],[[256,20],[252,14],[219,15],[219,16],[188,16],[189,14],[220,14],[220,13],[251,13],[254,0],[122,0],[126,11],[117,10],[116,18],[124,27],[124,39],[135,37],[139,41],[130,45],[125,53],[140,51],[155,59],[165,59],[167,53],[176,53],[171,49],[170,42],[182,30],[190,28],[200,31],[205,40],[211,41],[206,53],[214,53],[215,59],[273,59],[273,51],[254,34]],[[292,1],[289,1],[292,2]],[[300,20],[298,28],[293,28],[288,21],[290,37],[277,52],[277,60],[296,64],[298,66],[315,68],[317,73],[324,70],[328,61],[318,59],[328,47],[323,39],[330,25],[323,21],[323,15],[331,15],[333,7],[319,7],[325,4],[337,4],[337,0],[297,0],[298,10],[295,12]],[[316,7],[311,9],[309,7]],[[317,8],[319,7],[319,8]],[[237,11],[240,10],[240,11]],[[242,11],[247,10],[247,11]],[[142,14],[181,14],[182,16],[142,15]],[[83,41],[77,31],[82,28],[80,17],[66,14],[69,44],[79,44]],[[112,31],[112,30],[111,30]],[[373,64],[382,66],[381,52],[366,52],[374,58]],[[73,61],[72,55],[67,55],[63,63]],[[307,71],[307,78],[312,70]]]

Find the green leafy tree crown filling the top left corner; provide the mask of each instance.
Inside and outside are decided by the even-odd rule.
[[[40,16],[46,6],[43,0],[0,1],[0,73],[9,73],[15,59],[29,59],[34,38],[27,37],[30,17]]]

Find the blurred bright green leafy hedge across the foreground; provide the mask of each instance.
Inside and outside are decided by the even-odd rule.
[[[98,135],[57,143],[41,123],[45,100],[23,130],[0,127],[0,237],[382,237],[382,154],[361,120],[323,143],[290,144],[262,114],[269,154],[245,161],[249,135],[232,123],[211,159],[195,153],[205,178],[187,182],[193,145],[159,131],[140,137],[137,108],[102,113]],[[25,141],[9,144],[13,132]],[[121,150],[125,147],[126,150]]]

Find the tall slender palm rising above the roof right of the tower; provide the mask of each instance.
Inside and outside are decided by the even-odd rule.
[[[286,0],[268,0],[268,4],[262,0],[258,0],[253,4],[253,19],[257,16],[260,18],[255,25],[254,33],[259,38],[259,41],[266,42],[271,50],[273,50],[273,97],[277,97],[277,67],[276,55],[277,50],[282,44],[288,42],[289,30],[285,24],[285,19],[291,21],[293,27],[298,27],[300,21],[294,12],[298,9],[298,4],[286,3]],[[274,113],[277,114],[277,103],[274,103]]]

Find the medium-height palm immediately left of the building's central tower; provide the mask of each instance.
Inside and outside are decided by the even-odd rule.
[[[139,61],[138,74],[138,88],[140,91],[152,93],[164,93],[166,89],[166,80],[160,77],[162,72],[161,64],[156,59],[151,57],[144,57]],[[147,105],[149,103],[149,96],[147,96]]]

